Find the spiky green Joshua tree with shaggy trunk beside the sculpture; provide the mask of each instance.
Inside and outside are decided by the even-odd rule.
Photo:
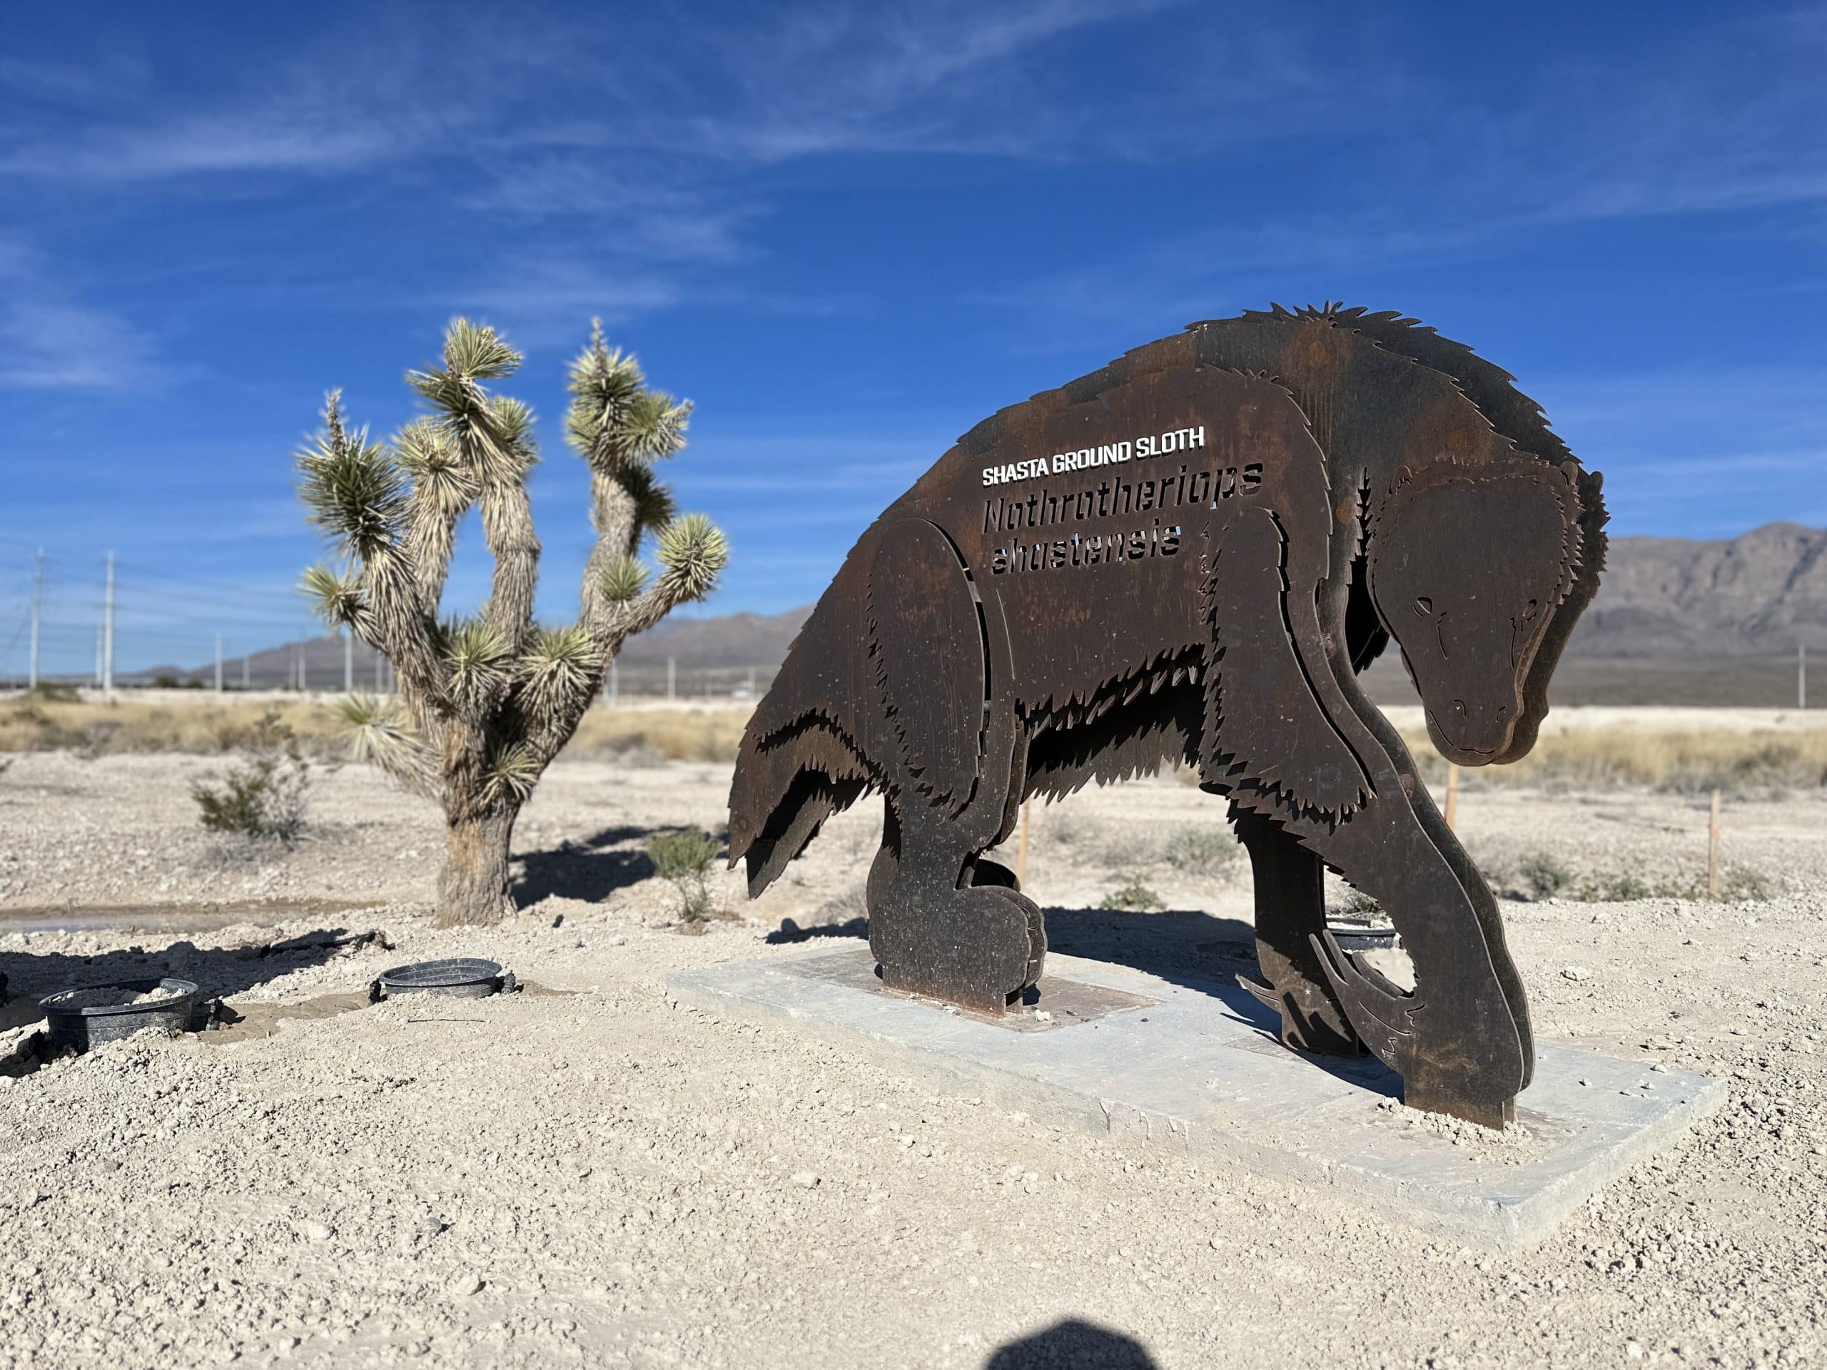
[[[327,623],[349,625],[385,654],[398,681],[396,703],[345,701],[356,754],[444,806],[442,924],[499,922],[512,910],[513,820],[623,639],[709,594],[729,559],[716,526],[702,513],[678,517],[654,477],[654,462],[685,446],[691,402],[649,389],[597,323],[570,365],[565,420],[566,442],[590,468],[597,543],[577,621],[535,625],[533,413],[484,389],[519,365],[493,329],[455,320],[442,365],[406,374],[428,415],[393,442],[371,442],[367,429],[347,427],[333,391],[323,429],[298,453],[309,521],[345,557],[342,570],[305,572],[305,592]],[[446,617],[457,522],[477,504],[495,561],[491,592],[477,614]],[[658,575],[639,561],[649,535]]]

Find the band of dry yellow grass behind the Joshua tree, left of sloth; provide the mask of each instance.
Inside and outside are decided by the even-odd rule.
[[[22,696],[0,703],[0,753],[73,751],[82,756],[175,751],[247,751],[261,736],[261,718],[298,738],[309,756],[347,756],[347,725],[334,701],[300,703],[64,703]],[[745,709],[608,709],[583,716],[572,756],[658,756],[678,762],[729,762],[747,725]]]

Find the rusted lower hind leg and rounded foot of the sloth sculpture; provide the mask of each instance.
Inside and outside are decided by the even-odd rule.
[[[968,815],[954,822],[919,795],[888,802],[870,868],[870,950],[892,990],[1001,1014],[1040,979],[1047,932],[1014,875],[977,859],[970,829]]]

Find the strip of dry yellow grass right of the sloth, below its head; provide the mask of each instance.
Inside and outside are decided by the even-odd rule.
[[[1425,732],[1405,734],[1423,778],[1438,789],[1447,764]],[[1827,785],[1827,727],[1734,732],[1730,729],[1580,727],[1549,732],[1511,765],[1463,773],[1465,782],[1553,789],[1641,785],[1677,795],[1730,795]]]

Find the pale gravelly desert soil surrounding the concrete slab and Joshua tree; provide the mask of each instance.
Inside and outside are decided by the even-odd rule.
[[[0,972],[16,994],[175,974],[248,1017],[0,1080],[0,1365],[1823,1355],[1818,793],[1727,809],[1727,857],[1763,875],[1767,902],[1505,904],[1540,1036],[1710,1070],[1732,1100],[1542,1249],[1487,1257],[1325,1191],[1040,1127],[789,1030],[669,1005],[674,970],[793,950],[784,919],[861,932],[877,806],[833,820],[758,904],[727,877],[738,919],[680,935],[639,844],[714,827],[727,767],[561,765],[519,831],[532,910],[455,933],[429,930],[422,902],[438,855],[428,809],[345,767],[314,791],[311,840],[248,851],[195,827],[186,791],[212,769],[22,756],[0,776]],[[1500,884],[1538,849],[1652,886],[1705,862],[1705,811],[1666,796],[1467,787],[1460,815]],[[1054,943],[1233,966],[1242,864],[1166,860],[1184,860],[1184,829],[1220,820],[1175,780],[1036,809],[1029,886]],[[1098,912],[1120,873],[1169,912]],[[283,926],[210,926],[256,901],[290,901],[259,906]],[[210,904],[227,912],[197,912]],[[95,906],[132,910],[113,917],[141,930],[4,932],[9,913],[37,928]],[[365,928],[396,948],[261,954]],[[437,955],[488,955],[561,994],[336,1012],[380,968]]]

